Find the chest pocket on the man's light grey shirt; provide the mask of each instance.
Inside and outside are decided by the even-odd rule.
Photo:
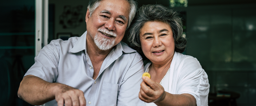
[[[100,106],[116,106],[119,84],[103,82]]]

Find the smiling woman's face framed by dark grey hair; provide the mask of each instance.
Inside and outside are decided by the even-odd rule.
[[[154,64],[165,64],[174,54],[174,38],[170,26],[161,21],[149,21],[141,28],[142,52]]]

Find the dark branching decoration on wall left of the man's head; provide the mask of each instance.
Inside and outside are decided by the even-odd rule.
[[[84,15],[81,12],[83,9],[82,5],[71,7],[69,5],[64,6],[62,14],[59,16],[59,24],[62,25],[63,29],[73,29],[82,22],[84,22]]]

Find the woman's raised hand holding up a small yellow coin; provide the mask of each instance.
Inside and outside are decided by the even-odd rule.
[[[143,76],[140,84],[139,98],[147,103],[160,102],[165,98],[165,90],[162,85]]]

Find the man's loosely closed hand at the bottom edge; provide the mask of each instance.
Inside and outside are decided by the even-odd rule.
[[[55,100],[58,106],[86,106],[84,93],[67,85],[61,85],[61,90],[56,91]]]

